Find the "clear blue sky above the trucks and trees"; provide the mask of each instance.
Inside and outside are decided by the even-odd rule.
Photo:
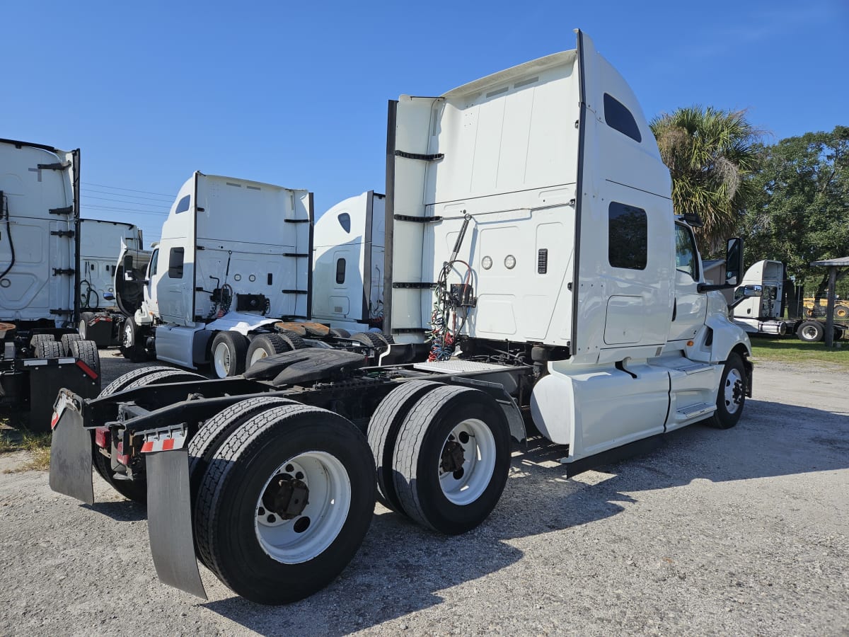
[[[195,170],[311,189],[317,215],[382,192],[388,99],[574,48],[576,27],[649,117],[747,109],[767,141],[849,125],[847,0],[48,0],[3,24],[0,137],[81,148],[83,216],[146,242]]]

